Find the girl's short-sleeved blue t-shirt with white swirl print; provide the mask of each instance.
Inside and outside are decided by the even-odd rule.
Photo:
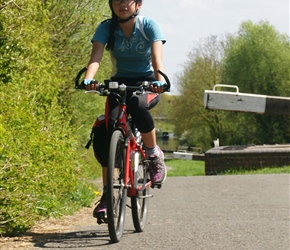
[[[92,42],[98,41],[106,45],[110,23],[111,20],[107,20],[98,26]],[[129,39],[118,27],[115,30],[115,47],[110,51],[112,76],[133,78],[151,75],[151,43],[156,41],[166,42],[158,23],[147,17],[136,17],[135,28]]]

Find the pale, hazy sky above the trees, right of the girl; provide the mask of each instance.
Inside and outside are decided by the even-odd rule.
[[[247,20],[268,21],[289,35],[289,13],[289,0],[143,0],[140,15],[154,19],[163,30],[163,64],[174,85],[194,42],[234,34]]]

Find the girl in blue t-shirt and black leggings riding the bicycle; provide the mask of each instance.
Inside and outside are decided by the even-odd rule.
[[[95,90],[93,81],[100,66],[104,49],[111,55],[113,81],[127,86],[136,85],[140,81],[153,82],[151,91],[144,95],[127,97],[127,107],[134,124],[142,135],[146,155],[150,159],[150,179],[152,183],[163,183],[166,178],[164,154],[156,144],[153,118],[149,112],[160,100],[165,80],[157,71],[163,71],[162,45],[166,42],[159,25],[147,17],[139,16],[142,0],[109,0],[112,18],[103,21],[92,38],[92,53],[84,84],[87,90]],[[118,115],[118,104],[114,98],[107,99],[109,121],[107,134]],[[107,166],[103,167],[103,195],[94,209],[94,217],[106,211],[106,174]]]

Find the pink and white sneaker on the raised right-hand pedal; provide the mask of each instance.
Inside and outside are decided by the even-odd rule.
[[[166,179],[166,166],[164,163],[164,154],[158,147],[158,153],[149,156],[150,163],[150,179],[154,184],[162,184]]]

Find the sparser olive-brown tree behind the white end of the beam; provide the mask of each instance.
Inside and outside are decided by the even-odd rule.
[[[210,147],[212,139],[221,137],[221,112],[203,107],[205,89],[221,83],[224,42],[217,36],[201,39],[188,54],[184,70],[178,76],[180,96],[174,101],[172,118],[176,134],[186,134],[191,146]]]

